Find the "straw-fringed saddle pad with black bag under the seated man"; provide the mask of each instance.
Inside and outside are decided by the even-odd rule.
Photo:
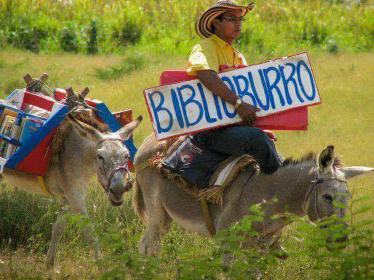
[[[223,193],[237,175],[252,169],[259,171],[251,155],[230,156],[200,147],[191,136],[168,139],[163,150],[153,155],[149,166],[172,180],[198,200],[223,207]]]

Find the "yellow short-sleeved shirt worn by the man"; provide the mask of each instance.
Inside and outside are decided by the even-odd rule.
[[[244,56],[217,35],[193,47],[188,58],[187,74],[196,76],[199,70],[229,71],[234,66],[247,65]]]

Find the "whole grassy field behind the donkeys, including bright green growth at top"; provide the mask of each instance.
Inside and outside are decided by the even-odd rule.
[[[143,115],[134,135],[140,146],[152,133],[142,89],[157,85],[166,69],[186,69],[188,53],[199,41],[195,19],[210,2],[0,0],[0,98],[24,87],[23,75],[39,77],[47,72],[52,88],[72,85],[80,91],[87,86],[89,97],[104,101],[111,111],[131,108],[134,117]],[[322,97],[322,105],[309,108],[307,131],[276,131],[280,152],[297,158],[333,144],[346,165],[374,167],[373,0],[258,0],[256,4],[236,47],[249,64],[309,51]],[[373,179],[370,174],[349,182],[354,194],[350,221],[366,223],[364,228],[372,231]],[[114,208],[92,178],[86,205],[108,267],[97,270],[72,219],[62,236],[55,268],[46,271],[57,201],[1,183],[0,279],[224,279],[224,271],[219,273],[211,265],[215,243],[175,224],[162,241],[159,259],[138,258],[137,243],[145,228],[132,210],[130,197],[122,207]],[[308,235],[315,232],[310,228],[308,233],[305,227],[303,231],[302,226],[298,222],[286,228],[282,241],[288,251],[307,253],[269,261],[264,278],[354,279],[353,274],[335,273],[334,267],[328,267],[333,258],[325,259],[327,267],[318,269],[316,255],[326,251],[308,252],[307,240],[312,240]],[[293,238],[300,232],[304,242]],[[372,252],[367,270],[374,277],[374,235],[367,234],[367,238],[371,241],[363,242],[363,248]],[[355,255],[362,252],[358,248],[352,245],[341,251],[353,258],[344,269],[359,257]],[[183,261],[195,268],[195,274],[178,274]],[[111,268],[127,274],[110,274]],[[153,274],[146,273],[148,268]],[[161,273],[156,277],[157,269]],[[232,279],[248,277],[242,274]]]

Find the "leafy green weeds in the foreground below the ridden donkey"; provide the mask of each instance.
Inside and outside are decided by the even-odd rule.
[[[261,205],[253,205],[251,213],[217,233],[207,253],[196,252],[194,248],[177,249],[170,242],[163,243],[162,252],[153,258],[122,249],[129,240],[117,233],[107,233],[102,246],[110,253],[99,262],[106,271],[101,279],[277,279],[273,271],[282,265],[277,259],[279,251],[257,243],[261,237],[252,228],[263,222]],[[368,229],[373,221],[351,224],[350,228],[343,225],[346,218],[331,217],[315,224],[288,215],[288,221],[298,222],[297,231],[284,244],[289,258],[305,259],[307,267],[314,269],[320,279],[374,277],[374,238],[373,230]],[[346,234],[349,240],[337,242]],[[248,246],[248,240],[252,240],[253,246]],[[294,249],[295,245],[298,249]]]

